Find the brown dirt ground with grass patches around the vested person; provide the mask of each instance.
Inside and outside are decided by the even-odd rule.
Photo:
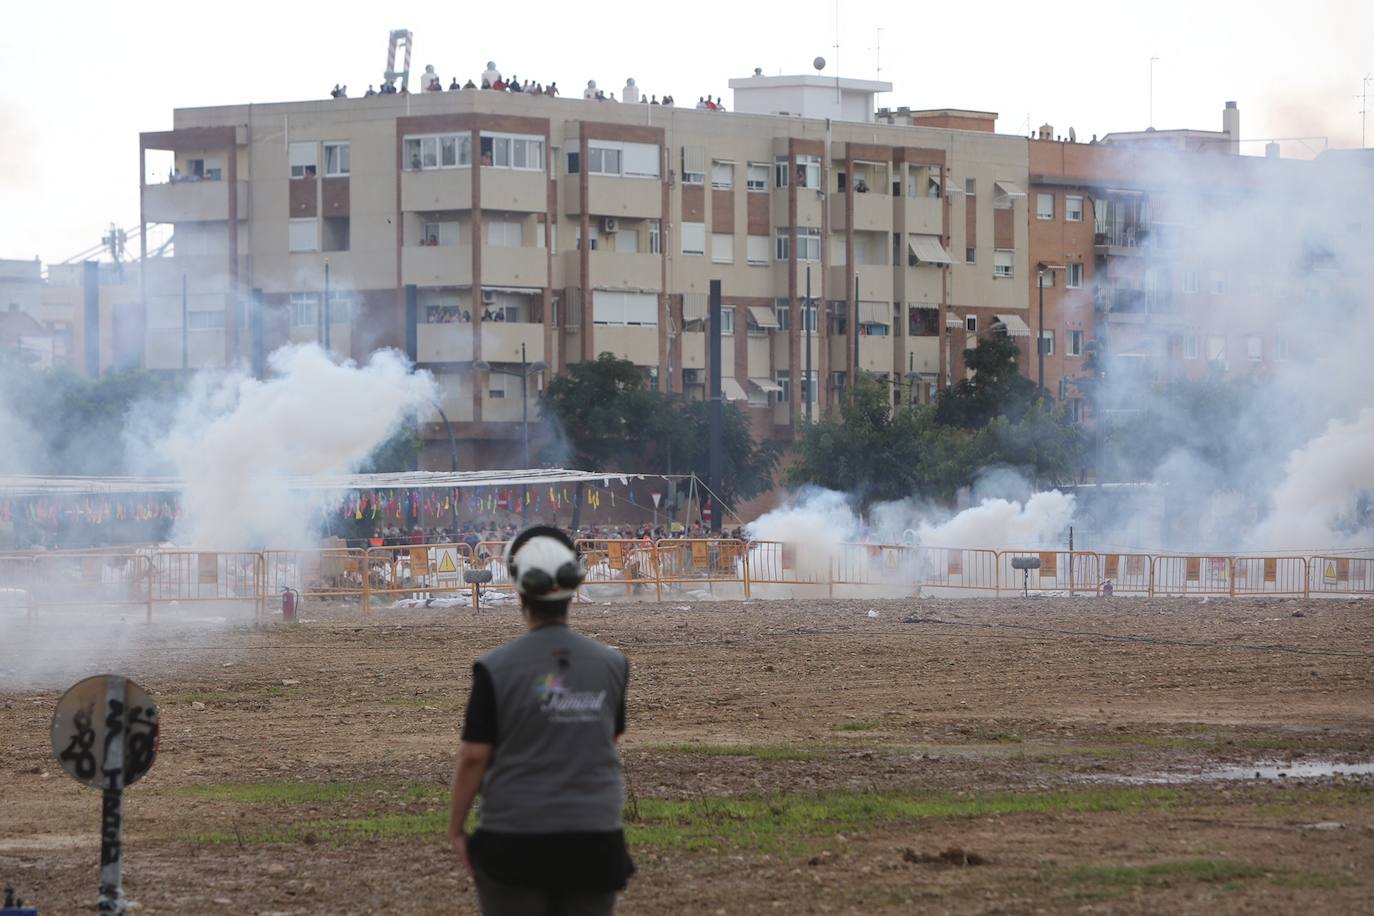
[[[877,617],[871,617],[875,611]],[[155,692],[142,913],[475,912],[444,840],[470,663],[510,608],[120,623]],[[1374,603],[813,600],[574,608],[631,658],[624,913],[1374,911]],[[99,795],[0,645],[0,883],[89,911]],[[18,633],[18,636],[14,636]],[[80,666],[74,666],[80,667]],[[1219,779],[1232,766],[1246,779]],[[1337,768],[1340,769],[1340,768]]]

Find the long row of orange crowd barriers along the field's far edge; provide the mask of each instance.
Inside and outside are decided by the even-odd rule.
[[[815,545],[735,538],[587,538],[578,600],[683,600],[812,596],[1143,596],[1374,595],[1374,552],[1228,556],[992,551],[910,544]],[[511,592],[506,542],[419,544],[367,549],[131,551],[0,553],[0,612],[250,603],[261,619],[286,592],[304,599],[376,603]],[[1037,569],[1014,562],[1032,558]],[[1030,566],[1035,566],[1033,563]],[[475,573],[477,575],[469,575]],[[489,575],[488,575],[489,574]]]

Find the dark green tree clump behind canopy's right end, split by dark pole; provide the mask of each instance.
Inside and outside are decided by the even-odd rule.
[[[540,413],[572,467],[708,477],[708,404],[646,387],[643,369],[611,353],[554,379]],[[749,416],[736,405],[727,404],[721,415],[720,496],[732,501],[768,490],[776,446],[754,441]]]

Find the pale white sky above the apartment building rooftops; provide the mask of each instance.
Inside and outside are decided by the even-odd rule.
[[[22,8],[16,7],[22,3]],[[448,7],[448,8],[445,8]],[[218,18],[220,11],[232,18]],[[1041,0],[934,7],[845,0],[840,70],[896,84],[881,104],[998,111],[1003,133],[1048,121],[1080,139],[1147,125],[1220,129],[1234,99],[1246,139],[1326,135],[1359,146],[1362,78],[1374,73],[1371,0]],[[0,7],[0,257],[62,261],[137,222],[137,135],[174,107],[361,95],[381,82],[390,29],[415,33],[412,74],[595,78],[731,103],[731,77],[811,73],[835,59],[834,0],[627,4],[118,4]],[[1374,82],[1370,85],[1374,92]],[[1374,136],[1374,117],[1370,118]],[[1314,141],[1312,148],[1320,148]],[[1261,152],[1252,144],[1248,152]],[[1285,155],[1311,154],[1285,144]]]

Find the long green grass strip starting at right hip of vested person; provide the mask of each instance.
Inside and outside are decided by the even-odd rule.
[[[661,849],[747,849],[796,853],[837,832],[863,831],[926,817],[1120,812],[1165,808],[1182,798],[1172,788],[1087,788],[1059,792],[829,791],[816,795],[639,799],[627,820],[636,845]]]

